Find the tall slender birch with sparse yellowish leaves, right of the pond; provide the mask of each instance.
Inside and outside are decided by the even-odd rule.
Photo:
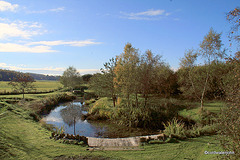
[[[200,49],[197,51],[189,50],[181,59],[180,66],[182,70],[179,71],[180,77],[188,79],[185,84],[182,84],[182,89],[185,90],[184,94],[194,94],[200,100],[201,109],[203,109],[204,98],[212,74],[211,63],[218,63],[224,56],[225,50],[222,49],[221,34],[216,33],[211,28],[200,43]],[[198,57],[204,60],[204,65],[197,66],[195,64]]]

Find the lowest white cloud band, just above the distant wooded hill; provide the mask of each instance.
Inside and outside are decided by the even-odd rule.
[[[62,67],[43,67],[43,68],[29,68],[26,65],[8,65],[6,63],[0,63],[0,68],[21,71],[21,72],[32,72],[32,73],[41,73],[41,74],[48,74],[48,75],[62,75],[62,73],[66,70],[66,68]],[[100,72],[99,69],[77,69],[81,75],[83,74],[93,74]]]

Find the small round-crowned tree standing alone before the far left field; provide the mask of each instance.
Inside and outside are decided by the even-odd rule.
[[[35,89],[33,82],[35,82],[35,80],[32,76],[29,74],[21,73],[18,74],[16,78],[13,78],[13,80],[9,82],[8,85],[10,85],[14,90],[21,92],[24,99],[25,92]]]

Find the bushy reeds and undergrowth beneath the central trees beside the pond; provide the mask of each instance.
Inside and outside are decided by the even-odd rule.
[[[129,127],[159,129],[163,127],[161,121],[172,119],[183,108],[182,105],[174,104],[177,102],[174,99],[152,99],[148,107],[144,107],[144,99],[139,99],[138,107],[133,100],[131,102],[127,107],[127,100],[122,99],[113,107],[110,99],[101,98],[90,106],[88,118],[109,119]]]

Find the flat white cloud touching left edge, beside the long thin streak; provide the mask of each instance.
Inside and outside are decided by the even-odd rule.
[[[49,46],[34,46],[15,44],[15,43],[0,43],[0,52],[22,52],[22,53],[49,53],[56,52],[51,50]]]

